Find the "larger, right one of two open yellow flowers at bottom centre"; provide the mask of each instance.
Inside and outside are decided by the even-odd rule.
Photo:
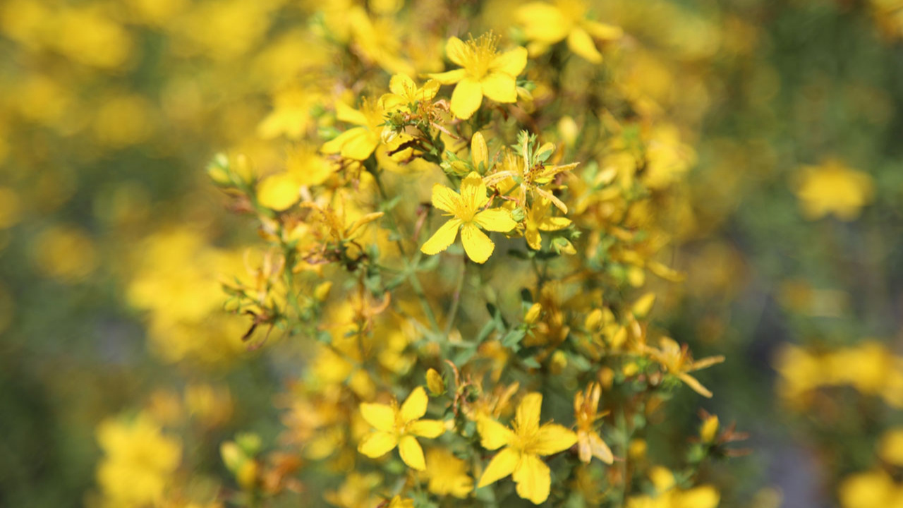
[[[573,447],[577,436],[560,425],[539,425],[539,413],[543,405],[540,393],[529,393],[517,406],[512,428],[489,418],[479,419],[477,430],[480,443],[489,450],[504,447],[489,461],[489,466],[479,478],[477,488],[512,475],[517,484],[517,495],[534,504],[549,497],[552,475],[549,466],[540,459]]]

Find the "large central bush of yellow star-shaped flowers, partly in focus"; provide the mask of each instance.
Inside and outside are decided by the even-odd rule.
[[[329,503],[510,494],[536,504],[718,503],[712,487],[693,486],[703,459],[728,455],[735,438],[714,435],[717,419],[680,482],[631,462],[647,419],[680,383],[712,397],[690,372],[723,358],[694,361],[650,325],[654,293],[619,296],[647,273],[681,278],[656,255],[668,241],[669,192],[693,155],[674,126],[644,111],[647,97],[625,93],[618,66],[597,67],[605,46],[596,43],[622,31],[587,13],[524,5],[527,48],[493,33],[452,35],[453,68],[426,66],[424,80],[398,72],[387,52],[402,46],[388,45],[366,57],[393,72],[381,94],[356,99],[373,84],[346,75],[299,85],[321,87],[322,107],[294,109],[293,126],[307,127],[283,132],[295,141],[282,169],[248,177],[245,159],[226,155],[209,166],[230,207],[256,215],[271,253],[255,284],[226,285],[233,308],[253,316],[246,338],[294,335],[309,352],[284,398],[284,438],[311,461],[303,470],[319,471],[302,478],[343,477],[323,493]],[[582,60],[548,64],[569,51]],[[600,70],[610,82],[562,80]],[[543,392],[573,400],[573,413],[544,410]],[[574,423],[543,423],[549,413]],[[658,494],[634,491],[645,473]],[[578,481],[590,476],[601,481]],[[252,480],[238,479],[249,496],[285,492]],[[572,481],[582,488],[569,492]]]

